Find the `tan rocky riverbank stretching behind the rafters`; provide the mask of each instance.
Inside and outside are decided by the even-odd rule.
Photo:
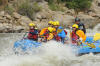
[[[100,1],[95,0],[92,3],[91,8],[87,12],[79,12],[77,15],[73,9],[64,8],[65,11],[52,11],[49,9],[48,3],[43,1],[39,5],[42,10],[35,14],[34,23],[37,24],[39,29],[47,27],[49,20],[60,21],[60,24],[64,27],[72,25],[75,16],[78,16],[85,24],[86,28],[94,28],[100,23]],[[45,6],[45,7],[44,7]],[[26,32],[28,30],[28,23],[32,22],[27,16],[22,16],[17,12],[13,12],[9,15],[5,11],[0,11],[0,33],[11,32]],[[45,26],[44,26],[45,25]]]

